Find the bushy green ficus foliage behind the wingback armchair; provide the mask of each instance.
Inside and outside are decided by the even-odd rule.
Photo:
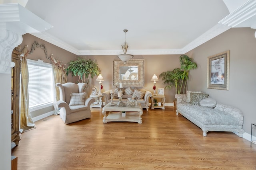
[[[72,76],[78,76],[78,82],[86,83],[85,88],[87,88],[88,81],[100,73],[100,68],[95,60],[78,57],[77,60],[70,61],[68,68],[66,68],[66,74],[69,73],[72,73]]]

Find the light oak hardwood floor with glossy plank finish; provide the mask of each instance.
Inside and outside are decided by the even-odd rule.
[[[208,132],[166,110],[143,109],[142,124],[92,117],[65,125],[59,115],[36,121],[12,155],[18,170],[255,170],[256,145],[232,132]]]

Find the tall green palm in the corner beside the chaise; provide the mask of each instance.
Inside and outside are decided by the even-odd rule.
[[[162,72],[159,77],[162,78],[164,84],[166,84],[165,89],[175,87],[176,94],[184,94],[186,92],[189,71],[196,69],[197,64],[187,55],[181,55],[179,58],[180,68]],[[176,109],[176,101],[174,101],[174,108]]]

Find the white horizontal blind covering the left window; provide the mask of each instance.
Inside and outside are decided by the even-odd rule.
[[[53,103],[52,65],[27,59],[29,108]]]

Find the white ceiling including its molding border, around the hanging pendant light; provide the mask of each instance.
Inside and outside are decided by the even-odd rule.
[[[22,0],[52,28],[31,33],[76,55],[183,54],[226,31],[248,0]]]

